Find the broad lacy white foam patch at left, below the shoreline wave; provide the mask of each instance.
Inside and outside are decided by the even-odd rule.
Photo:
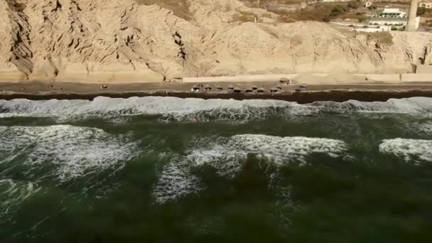
[[[0,163],[23,156],[30,170],[50,168],[64,182],[117,168],[136,150],[122,136],[80,126],[0,126]]]

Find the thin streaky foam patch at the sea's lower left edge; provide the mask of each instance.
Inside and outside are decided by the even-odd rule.
[[[8,215],[40,189],[36,183],[11,179],[0,180],[0,219],[9,220]]]

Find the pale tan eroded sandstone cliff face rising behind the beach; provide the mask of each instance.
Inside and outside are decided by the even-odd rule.
[[[165,1],[0,1],[0,79],[153,82],[432,64],[431,33],[394,32],[383,42],[326,23],[277,23],[237,0],[182,0],[181,14]],[[239,21],[244,13],[258,23]]]

